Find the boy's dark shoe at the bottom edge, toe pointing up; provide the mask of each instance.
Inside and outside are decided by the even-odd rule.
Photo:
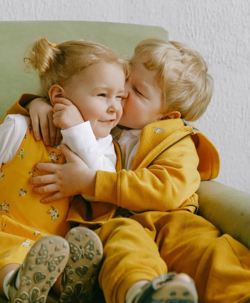
[[[175,273],[168,273],[136,288],[126,303],[198,303],[193,280],[173,280]]]

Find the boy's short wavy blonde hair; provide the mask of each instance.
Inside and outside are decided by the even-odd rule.
[[[131,59],[147,55],[145,67],[157,71],[163,90],[164,111],[177,110],[181,118],[195,121],[206,111],[212,97],[213,80],[202,56],[178,42],[145,39]]]

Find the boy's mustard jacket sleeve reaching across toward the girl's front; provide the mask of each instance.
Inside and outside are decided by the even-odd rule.
[[[181,207],[200,184],[199,158],[190,140],[171,147],[148,168],[145,165],[134,171],[97,171],[95,201],[133,211],[168,211]]]

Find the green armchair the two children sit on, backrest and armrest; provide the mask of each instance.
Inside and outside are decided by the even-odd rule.
[[[168,40],[168,32],[156,26],[84,21],[0,22],[0,120],[21,93],[37,93],[38,77],[24,72],[25,49],[45,36],[51,42],[86,39],[103,43],[129,58],[134,46],[144,38]],[[198,215],[250,248],[250,194],[216,181],[202,181]],[[97,292],[100,294],[100,291]],[[58,302],[51,293],[47,302]],[[94,302],[101,302],[97,295]],[[0,303],[7,302],[0,297]]]

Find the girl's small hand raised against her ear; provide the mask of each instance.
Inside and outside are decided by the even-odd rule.
[[[54,103],[54,125],[64,130],[84,122],[78,108],[70,100],[55,98]]]

